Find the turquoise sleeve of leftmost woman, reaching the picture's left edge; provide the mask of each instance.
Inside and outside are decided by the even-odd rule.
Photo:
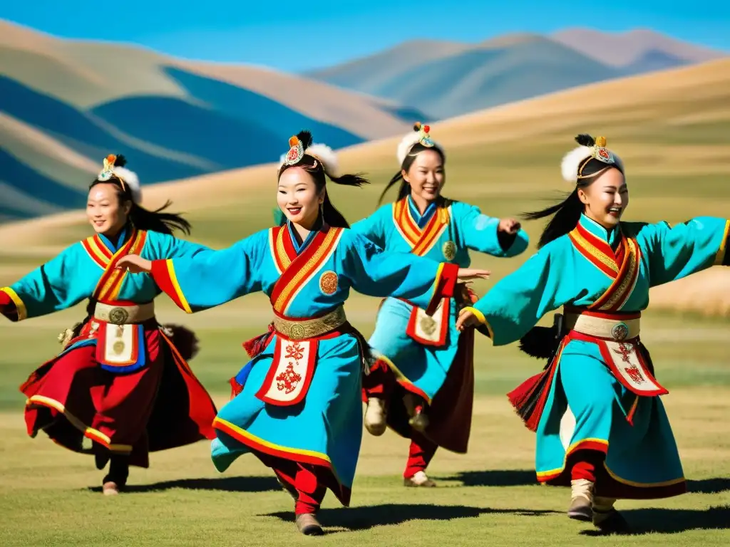
[[[11,321],[60,311],[88,295],[74,290],[80,244],[74,244],[9,287],[0,288],[0,313]]]

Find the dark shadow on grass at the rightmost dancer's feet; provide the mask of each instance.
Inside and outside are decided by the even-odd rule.
[[[730,506],[699,509],[629,509],[621,514],[631,525],[630,535],[677,534],[688,530],[730,529]],[[583,530],[583,535],[602,535],[596,529]]]

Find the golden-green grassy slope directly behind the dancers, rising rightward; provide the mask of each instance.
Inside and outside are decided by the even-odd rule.
[[[627,167],[627,220],[683,222],[730,211],[730,60],[599,82],[507,104],[433,125],[448,155],[446,195],[493,216],[514,216],[550,203],[569,187],[562,155],[581,131],[607,136]],[[350,220],[369,214],[396,170],[398,137],[347,147],[342,167],[365,171],[369,188],[331,187]],[[145,188],[145,203],[172,198],[193,222],[193,238],[224,247],[272,222],[272,165],[234,169]],[[242,185],[246,181],[246,185]],[[392,194],[391,194],[392,195]],[[541,223],[526,223],[532,241]],[[82,212],[0,226],[0,284],[88,233]],[[529,253],[527,253],[529,255]],[[474,255],[495,279],[527,256]],[[485,290],[488,287],[477,287]],[[653,307],[730,317],[730,272],[710,270],[652,290]]]

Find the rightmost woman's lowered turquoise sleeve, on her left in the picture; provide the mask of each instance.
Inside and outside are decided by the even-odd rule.
[[[571,279],[568,266],[559,251],[543,247],[466,309],[487,327],[495,346],[510,344],[543,315],[579,296],[579,284]]]

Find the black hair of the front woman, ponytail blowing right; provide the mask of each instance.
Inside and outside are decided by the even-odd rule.
[[[312,133],[310,133],[310,131],[299,131],[299,133],[296,134],[296,138],[299,139],[299,143],[302,147],[304,147],[304,150],[307,150],[307,148],[312,146]],[[307,153],[304,153],[298,162],[293,163],[292,165],[284,164],[281,166],[279,168],[278,178],[281,178],[283,172],[292,167],[301,167],[304,171],[307,171],[307,173],[312,176],[312,179],[314,179],[315,188],[318,193],[322,190],[325,191],[324,202],[322,203],[323,221],[333,228],[350,228],[350,224],[347,222],[342,213],[337,210],[329,198],[329,193],[326,190],[327,179],[330,179],[336,185],[357,187],[367,185],[369,184],[369,181],[364,179],[362,174],[334,176],[331,172],[331,166],[328,168],[323,163],[323,160]],[[286,217],[281,212],[275,214],[274,218],[280,225],[284,225],[286,222]]]

